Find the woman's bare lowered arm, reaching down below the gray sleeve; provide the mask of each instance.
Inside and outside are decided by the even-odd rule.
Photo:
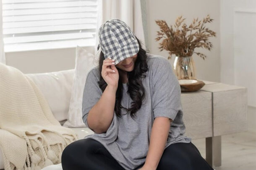
[[[170,130],[172,119],[168,117],[156,117],[152,126],[149,151],[146,161],[139,170],[156,170],[164,152],[165,144]]]

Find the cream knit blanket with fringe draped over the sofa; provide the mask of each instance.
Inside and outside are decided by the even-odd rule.
[[[58,164],[64,148],[76,140],[77,134],[55,119],[36,84],[0,63],[0,150],[5,170],[41,170]]]

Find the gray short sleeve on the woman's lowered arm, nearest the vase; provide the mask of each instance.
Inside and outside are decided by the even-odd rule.
[[[181,90],[178,78],[166,58],[160,56],[152,76],[154,118],[169,117],[173,121],[179,110],[182,110]]]

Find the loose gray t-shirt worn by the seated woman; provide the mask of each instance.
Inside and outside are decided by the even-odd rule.
[[[169,117],[173,120],[165,148],[176,142],[191,142],[191,137],[184,135],[180,84],[171,64],[167,58],[146,54],[149,69],[145,73],[146,77],[142,78],[145,98],[141,108],[135,114],[135,120],[131,118],[130,112],[126,114],[126,110],[122,108],[122,117],[117,117],[114,113],[106,133],[94,133],[84,137],[97,140],[104,145],[125,170],[134,170],[144,164],[149,149],[153,117]],[[82,112],[83,121],[87,127],[88,112],[102,96],[102,90],[97,81],[99,81],[99,65],[89,71],[84,87]],[[123,83],[121,104],[126,108],[131,107],[132,102],[127,90],[128,84]]]

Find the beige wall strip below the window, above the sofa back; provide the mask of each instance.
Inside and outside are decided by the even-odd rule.
[[[91,53],[93,47],[86,47]],[[5,53],[6,64],[23,73],[43,73],[75,68],[76,48]]]

